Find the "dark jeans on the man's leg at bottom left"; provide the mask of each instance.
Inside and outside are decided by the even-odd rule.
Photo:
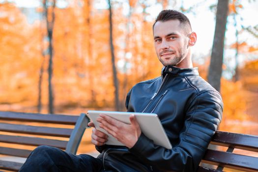
[[[35,148],[19,172],[101,172],[102,161],[90,155],[73,155],[51,146]]]

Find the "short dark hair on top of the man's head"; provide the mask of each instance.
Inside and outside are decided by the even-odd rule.
[[[152,26],[152,30],[154,29],[154,26],[158,21],[166,22],[169,20],[179,20],[180,23],[183,24],[184,26],[189,25],[189,29],[192,30],[189,19],[183,13],[172,9],[162,10],[159,13],[159,15],[155,20],[155,23]]]

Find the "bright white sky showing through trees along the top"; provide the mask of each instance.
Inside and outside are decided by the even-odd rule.
[[[0,0],[0,2],[7,0]],[[18,7],[38,7],[41,6],[41,0],[8,0],[15,2]],[[73,0],[69,0],[70,2]],[[121,2],[127,2],[127,0],[120,0]],[[242,9],[239,9],[239,16],[237,16],[237,29],[241,30],[241,25],[248,26],[258,26],[255,16],[258,16],[258,0],[239,0],[243,5]],[[94,0],[95,7],[97,8],[107,8],[107,0]],[[176,3],[174,3],[176,2]],[[156,0],[148,0],[149,8],[147,12],[150,14],[148,20],[154,21],[155,17],[162,10],[161,5],[156,4]],[[211,5],[216,5],[217,0],[170,0],[169,9],[179,10],[181,5],[185,9],[193,7],[192,11],[185,13],[186,16],[191,21],[192,29],[197,33],[197,43],[192,49],[193,59],[199,63],[203,63],[203,58],[211,55],[211,48],[214,37],[215,30],[215,10],[210,10]],[[64,8],[67,6],[67,0],[57,0],[57,6],[59,8]],[[124,13],[128,13],[129,6],[124,3]],[[141,9],[140,9],[141,10]],[[230,45],[235,42],[235,26],[232,16],[228,17],[227,32],[225,37],[225,44]],[[249,45],[258,47],[258,39],[254,38],[250,33],[244,32],[239,36],[239,42],[246,41]],[[225,57],[233,57],[235,54],[234,50],[226,49],[224,52]],[[244,64],[247,58],[258,58],[257,55],[239,56],[240,66]],[[226,58],[225,58],[226,59]],[[234,58],[230,58],[232,61],[229,63],[233,68],[235,65]],[[230,77],[230,76],[229,76]]]

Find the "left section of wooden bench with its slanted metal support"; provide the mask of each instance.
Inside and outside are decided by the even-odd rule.
[[[0,158],[12,156],[27,158],[33,149],[25,145],[49,145],[76,154],[85,132],[88,118],[85,114],[43,115],[0,112]],[[53,124],[55,128],[52,127]],[[60,127],[56,128],[57,124]],[[0,160],[0,169],[17,172],[23,163]]]

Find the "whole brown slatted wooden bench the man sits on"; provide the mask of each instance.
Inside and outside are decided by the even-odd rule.
[[[30,123],[31,125],[28,125]],[[40,126],[38,126],[39,123]],[[85,114],[75,116],[0,112],[0,155],[27,158],[31,150],[21,148],[24,145],[55,146],[76,154],[87,123],[88,118]],[[55,128],[51,127],[53,124]],[[56,128],[58,124],[62,125]],[[70,126],[70,128],[64,126]],[[22,134],[26,135],[21,136]],[[217,167],[211,169],[200,166],[198,172],[223,172],[224,167],[245,172],[258,172],[258,157],[233,152],[235,148],[258,152],[258,136],[217,131],[210,144],[227,147],[227,151],[208,148],[201,162]],[[0,160],[0,169],[5,171],[17,172],[21,166],[22,163]]]

